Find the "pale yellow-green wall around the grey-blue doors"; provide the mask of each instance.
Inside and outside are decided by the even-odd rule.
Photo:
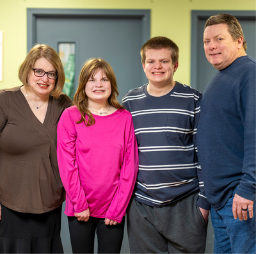
[[[27,53],[27,8],[150,9],[151,36],[168,36],[180,48],[175,80],[189,84],[191,10],[256,10],[255,0],[0,0],[3,38],[3,82],[20,84],[17,70]]]

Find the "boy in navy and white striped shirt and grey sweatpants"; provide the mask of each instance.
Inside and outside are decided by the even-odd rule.
[[[201,93],[173,81],[179,48],[157,36],[141,47],[148,84],[129,91],[139,173],[127,228],[131,253],[204,253],[209,203],[193,142]]]

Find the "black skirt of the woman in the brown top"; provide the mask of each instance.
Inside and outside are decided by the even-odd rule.
[[[44,214],[1,207],[0,253],[63,253],[61,206]]]

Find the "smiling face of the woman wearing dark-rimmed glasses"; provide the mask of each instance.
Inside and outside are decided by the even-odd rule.
[[[45,72],[56,72],[56,69],[53,67],[53,65],[45,58],[39,58],[36,60],[33,68],[44,70]],[[44,97],[46,95],[48,96],[49,93],[51,93],[51,91],[54,89],[55,82],[56,80],[49,79],[47,74],[45,74],[43,77],[36,77],[34,70],[31,70],[28,76],[29,86],[27,90],[39,97]]]

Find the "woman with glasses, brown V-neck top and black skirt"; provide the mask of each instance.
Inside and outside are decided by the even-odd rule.
[[[0,253],[63,253],[56,131],[72,100],[61,93],[57,52],[35,45],[19,79],[22,86],[0,90]]]

